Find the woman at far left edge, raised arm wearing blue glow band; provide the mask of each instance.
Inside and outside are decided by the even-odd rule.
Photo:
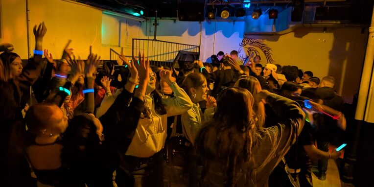
[[[3,186],[28,186],[30,169],[23,155],[21,141],[25,137],[22,109],[30,100],[30,86],[38,79],[43,55],[45,23],[34,26],[34,57],[23,68],[21,57],[11,52],[11,44],[0,44],[0,180]]]

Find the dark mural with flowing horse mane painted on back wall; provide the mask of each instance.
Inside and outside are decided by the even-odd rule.
[[[252,39],[252,38],[243,38],[242,42],[239,44],[239,58],[243,60],[243,62],[247,62],[251,54],[253,57],[260,56],[262,63],[274,63],[274,59],[272,57],[272,48],[267,46],[263,40]],[[263,58],[265,57],[266,60]]]

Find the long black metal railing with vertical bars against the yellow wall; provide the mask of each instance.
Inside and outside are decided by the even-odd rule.
[[[171,66],[179,51],[200,53],[200,46],[180,44],[175,42],[154,39],[133,39],[132,55],[137,56],[139,51],[148,57],[153,66]]]

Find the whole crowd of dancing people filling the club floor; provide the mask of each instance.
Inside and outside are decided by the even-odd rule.
[[[4,186],[311,187],[311,160],[324,180],[342,154],[328,150],[346,128],[331,76],[234,50],[176,70],[140,53],[77,60],[68,42],[56,60],[46,33],[35,25],[24,67],[0,44]]]

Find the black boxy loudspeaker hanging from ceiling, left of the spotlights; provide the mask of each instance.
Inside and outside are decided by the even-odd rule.
[[[204,3],[180,3],[178,5],[179,21],[204,21]]]

